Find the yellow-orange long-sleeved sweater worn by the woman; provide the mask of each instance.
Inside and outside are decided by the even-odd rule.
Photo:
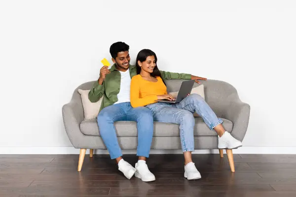
[[[157,82],[147,81],[140,74],[131,80],[131,105],[132,107],[145,106],[157,101],[157,95],[167,95],[167,88],[160,77]]]

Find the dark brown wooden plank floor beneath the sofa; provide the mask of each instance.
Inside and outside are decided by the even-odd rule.
[[[188,181],[183,155],[151,155],[156,181],[146,183],[126,179],[108,155],[85,155],[80,172],[78,155],[0,155],[0,197],[296,197],[296,155],[234,155],[234,173],[226,155],[193,158],[202,178]]]

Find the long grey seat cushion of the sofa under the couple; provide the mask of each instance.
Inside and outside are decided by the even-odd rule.
[[[226,131],[232,131],[232,122],[223,119],[223,127]],[[114,123],[117,136],[138,136],[136,123],[132,121],[118,121]],[[100,136],[97,119],[85,120],[80,124],[80,130],[85,135]],[[154,122],[153,136],[180,136],[179,125],[172,123]],[[216,136],[216,131],[211,131],[202,118],[195,118],[194,136]]]

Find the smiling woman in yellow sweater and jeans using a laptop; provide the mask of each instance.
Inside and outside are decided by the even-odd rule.
[[[174,98],[168,95],[156,63],[157,57],[153,51],[143,49],[139,52],[136,59],[137,75],[131,80],[131,105],[148,107],[152,111],[154,121],[180,125],[181,145],[185,159],[184,176],[188,180],[199,179],[201,175],[191,158],[191,152],[194,151],[194,112],[203,118],[211,130],[214,129],[218,133],[219,149],[233,149],[242,144],[224,130],[222,120],[217,118],[210,106],[198,94],[191,94],[179,103],[157,102],[157,99],[173,100]]]

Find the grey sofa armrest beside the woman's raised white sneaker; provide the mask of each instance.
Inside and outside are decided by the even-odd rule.
[[[250,105],[240,99],[231,101],[224,105],[223,117],[233,123],[231,135],[242,141],[249,125]]]

